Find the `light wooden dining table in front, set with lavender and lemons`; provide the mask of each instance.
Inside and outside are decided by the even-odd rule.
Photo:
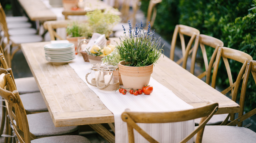
[[[111,39],[117,40],[116,38]],[[99,97],[77,76],[69,64],[54,65],[45,59],[44,45],[50,43],[24,43],[22,52],[37,82],[43,99],[56,127],[87,125],[101,132],[101,123],[113,123],[113,113]],[[219,103],[216,114],[238,113],[239,104],[212,88],[166,56],[154,64],[153,77],[176,96],[198,107],[208,102]],[[83,67],[81,67],[83,68]],[[86,74],[86,73],[85,73]],[[107,133],[106,136],[110,134]],[[113,141],[113,136],[109,142]]]

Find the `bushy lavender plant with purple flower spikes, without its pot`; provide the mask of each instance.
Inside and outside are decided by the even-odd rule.
[[[124,60],[127,65],[133,67],[148,66],[157,63],[163,46],[161,46],[160,38],[155,37],[155,30],[150,31],[151,26],[148,22],[147,32],[143,29],[142,21],[136,24],[132,32],[132,26],[129,21],[129,32],[126,34],[125,28],[124,36],[119,38],[120,44],[117,44],[118,54],[120,59]]]

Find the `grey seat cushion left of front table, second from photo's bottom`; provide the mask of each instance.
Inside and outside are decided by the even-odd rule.
[[[29,130],[35,136],[64,135],[77,131],[79,126],[55,127],[49,112],[27,115]]]

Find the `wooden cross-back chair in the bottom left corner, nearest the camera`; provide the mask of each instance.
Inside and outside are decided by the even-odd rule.
[[[9,90],[6,90],[5,87],[7,87]],[[22,101],[20,99],[19,93],[17,90],[15,90],[15,86],[14,86],[14,82],[11,78],[11,74],[10,73],[2,73],[0,75],[0,95],[2,96],[2,98],[5,99],[5,103],[7,106],[7,112],[9,115],[9,119],[11,121],[11,127],[14,130],[14,135],[15,135],[15,139],[16,142],[22,142],[22,143],[30,143],[30,142],[60,142],[61,140],[67,142],[90,142],[87,138],[82,137],[82,136],[73,136],[73,135],[69,135],[69,136],[53,136],[51,138],[48,138],[46,136],[49,136],[51,134],[51,132],[53,131],[53,129],[48,129],[45,130],[44,132],[50,132],[50,133],[46,133],[46,135],[44,136],[44,138],[40,138],[36,136],[36,134],[31,133],[29,126],[33,126],[32,124],[30,124],[29,121],[30,118],[26,115],[26,111],[24,109],[24,106],[22,104]],[[40,114],[40,113],[38,113]],[[34,114],[36,115],[36,114]],[[39,116],[40,117],[40,116]],[[50,115],[49,115],[50,117]],[[51,117],[50,117],[51,119]],[[40,118],[39,118],[40,120]],[[41,120],[42,121],[42,120]],[[41,122],[43,123],[43,122]],[[53,123],[52,123],[53,125]],[[34,125],[35,127],[37,126],[38,128],[40,128],[40,125]],[[43,126],[48,126],[47,124],[43,124]],[[49,126],[48,126],[49,127]],[[54,125],[52,126],[52,128],[56,128],[54,127]],[[62,128],[62,127],[59,127]],[[65,127],[64,127],[65,128]],[[39,129],[40,130],[40,129]],[[51,131],[52,130],[52,131]],[[65,129],[64,129],[65,130]],[[48,134],[48,135],[47,135]],[[56,134],[58,135],[58,134]],[[59,134],[61,135],[61,134]],[[34,141],[33,141],[34,140]]]

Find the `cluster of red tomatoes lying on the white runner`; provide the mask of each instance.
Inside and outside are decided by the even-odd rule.
[[[142,92],[146,95],[150,94],[153,92],[153,87],[151,85],[146,85],[143,86],[142,89],[131,89],[131,88],[126,88],[126,89],[130,89],[129,92],[133,95],[139,95],[142,94]],[[119,88],[119,92],[122,94],[126,94],[127,90],[125,88]]]

